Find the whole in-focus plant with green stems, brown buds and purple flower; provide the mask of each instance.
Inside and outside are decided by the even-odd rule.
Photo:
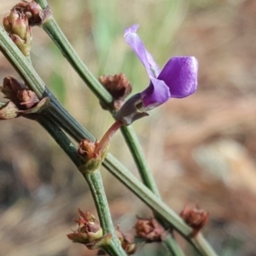
[[[36,25],[41,26],[49,34],[67,61],[84,80],[84,84],[87,84],[99,98],[102,107],[111,113],[119,109],[115,113],[117,120],[100,141],[63,108],[33,68],[30,50],[32,26]],[[126,256],[127,253],[135,252],[133,235],[130,232],[122,232],[113,225],[100,171],[104,165],[152,209],[154,218],[140,218],[137,221],[135,228],[140,239],[147,242],[163,242],[169,253],[182,256],[183,252],[172,234],[172,230],[177,230],[201,255],[216,256],[204,237],[198,233],[207,223],[208,213],[198,209],[185,209],[181,214],[182,219],[167,207],[160,198],[135,132],[131,127],[122,127],[148,115],[148,110],[160,106],[171,97],[182,98],[194,93],[198,69],[195,57],[173,57],[160,71],[137,35],[138,25],[126,28],[125,41],[143,62],[150,82],[145,90],[132,96],[122,106],[125,96],[131,92],[129,80],[120,73],[103,76],[99,79],[101,84],[98,83],[64,37],[46,0],[23,1],[16,4],[10,14],[3,19],[3,26],[5,31],[0,26],[0,51],[20,73],[24,82],[21,83],[10,76],[3,80],[0,90],[9,102],[0,102],[0,119],[18,118],[22,114],[27,119],[36,120],[49,131],[88,183],[96,204],[99,222],[89,212],[79,210],[77,227],[67,237],[90,249],[100,249],[99,253],[104,251],[111,256]],[[120,127],[131,149],[142,182],[108,153],[109,142]],[[68,136],[79,143],[79,149]]]

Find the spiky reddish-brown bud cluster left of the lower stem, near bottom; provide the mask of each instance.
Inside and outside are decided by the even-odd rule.
[[[90,248],[92,241],[98,241],[102,238],[101,225],[90,212],[79,210],[79,218],[74,221],[77,223],[77,228],[73,233],[67,235],[73,242],[83,243]]]

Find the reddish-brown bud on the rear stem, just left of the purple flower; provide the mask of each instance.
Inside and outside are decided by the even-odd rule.
[[[131,83],[125,77],[124,73],[115,74],[113,76],[104,75],[99,77],[99,82],[108,90],[113,96],[113,109],[118,110],[121,108],[125,97],[131,93]],[[106,109],[101,103],[102,108]]]

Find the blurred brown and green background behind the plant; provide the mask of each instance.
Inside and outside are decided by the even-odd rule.
[[[15,3],[1,1],[2,18]],[[96,77],[125,73],[132,93],[148,85],[148,76],[125,44],[126,26],[140,24],[138,33],[160,67],[172,55],[195,55],[196,93],[154,109],[134,128],[166,204],[176,212],[185,204],[210,212],[203,233],[219,255],[256,255],[256,2],[49,0],[49,5],[90,71]],[[68,111],[102,137],[113,122],[110,114],[44,31],[32,32],[34,67]],[[0,55],[0,79],[8,75],[19,78]],[[96,255],[66,237],[78,208],[96,214],[73,163],[31,120],[1,121],[0,132],[0,255]],[[137,175],[120,134],[110,151]],[[102,176],[113,221],[122,230],[132,230],[136,215],[151,216],[107,171]],[[186,242],[179,242],[192,255]],[[161,247],[142,244],[136,255],[160,252],[165,255]]]

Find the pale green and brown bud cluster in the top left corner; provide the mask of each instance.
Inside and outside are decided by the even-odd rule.
[[[3,18],[3,27],[23,55],[29,56],[32,45],[32,26],[41,25],[50,10],[43,10],[34,0],[16,4]]]

